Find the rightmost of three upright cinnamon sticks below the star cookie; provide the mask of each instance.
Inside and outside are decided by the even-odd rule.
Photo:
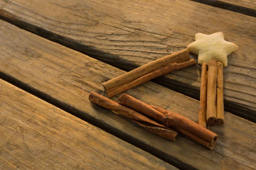
[[[224,123],[223,65],[217,62],[216,125]]]

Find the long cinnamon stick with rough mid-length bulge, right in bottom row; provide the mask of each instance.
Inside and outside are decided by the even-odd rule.
[[[196,142],[203,144],[204,146],[212,149],[215,145],[215,142],[218,139],[218,135],[211,132],[210,130],[198,125],[197,123],[191,121],[190,119],[181,116],[177,113],[166,111],[162,108],[155,109],[157,107],[151,107],[144,102],[141,102],[138,99],[129,96],[128,94],[122,94],[118,101],[121,104],[126,105],[129,108],[134,109],[140,113],[143,113],[146,116],[149,116],[153,119],[163,122],[167,127],[175,128],[181,133],[191,137]],[[163,116],[160,118],[160,116]]]

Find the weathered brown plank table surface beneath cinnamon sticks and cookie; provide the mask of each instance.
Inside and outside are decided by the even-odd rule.
[[[0,0],[0,18],[1,170],[256,169],[254,17],[190,0]],[[209,127],[213,150],[88,100],[106,95],[102,82],[217,31],[239,49],[224,68],[226,122]],[[125,93],[197,122],[200,72],[196,64]]]

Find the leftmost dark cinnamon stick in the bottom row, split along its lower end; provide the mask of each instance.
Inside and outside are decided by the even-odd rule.
[[[120,105],[119,103],[114,102],[111,99],[108,99],[100,94],[91,92],[89,95],[89,100],[97,105],[111,110],[113,113],[118,113],[131,119],[131,121],[137,123],[141,127],[144,127],[146,130],[151,131],[152,133],[155,133],[172,141],[175,141],[177,138],[178,133],[175,130],[160,125],[159,123],[149,119],[148,117],[143,116],[142,114],[130,108]]]

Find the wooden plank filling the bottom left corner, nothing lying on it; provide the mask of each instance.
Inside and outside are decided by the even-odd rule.
[[[0,169],[177,169],[0,79]]]

